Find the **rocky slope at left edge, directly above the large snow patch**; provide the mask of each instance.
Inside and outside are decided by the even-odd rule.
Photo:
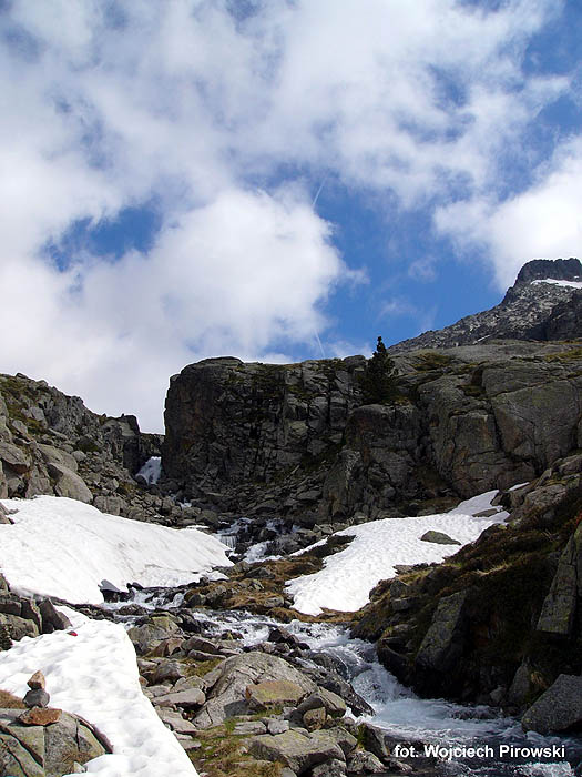
[[[134,475],[161,442],[141,433],[133,415],[96,415],[44,381],[0,375],[0,498],[54,494],[114,515],[160,518],[163,500]]]

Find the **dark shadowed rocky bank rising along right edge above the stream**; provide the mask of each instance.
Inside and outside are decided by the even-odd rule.
[[[509,525],[491,526],[440,565],[380,583],[353,633],[377,640],[380,662],[421,694],[518,713],[559,675],[582,672],[582,454],[558,458],[499,500]],[[562,703],[557,688],[524,725],[579,725],[569,700],[576,693]]]

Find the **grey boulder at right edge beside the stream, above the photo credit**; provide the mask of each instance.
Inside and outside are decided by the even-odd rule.
[[[565,731],[582,723],[582,677],[559,675],[521,718],[524,731]]]

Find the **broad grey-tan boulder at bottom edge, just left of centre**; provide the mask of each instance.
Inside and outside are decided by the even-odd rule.
[[[316,764],[345,760],[341,748],[327,731],[302,734],[290,729],[276,736],[267,734],[252,739],[248,751],[255,758],[284,764],[298,775]]]

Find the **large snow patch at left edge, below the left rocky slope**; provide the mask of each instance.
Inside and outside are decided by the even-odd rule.
[[[176,586],[231,566],[226,546],[197,529],[175,529],[100,513],[58,496],[3,500],[14,525],[0,525],[0,569],[24,595],[100,604],[100,583]]]

